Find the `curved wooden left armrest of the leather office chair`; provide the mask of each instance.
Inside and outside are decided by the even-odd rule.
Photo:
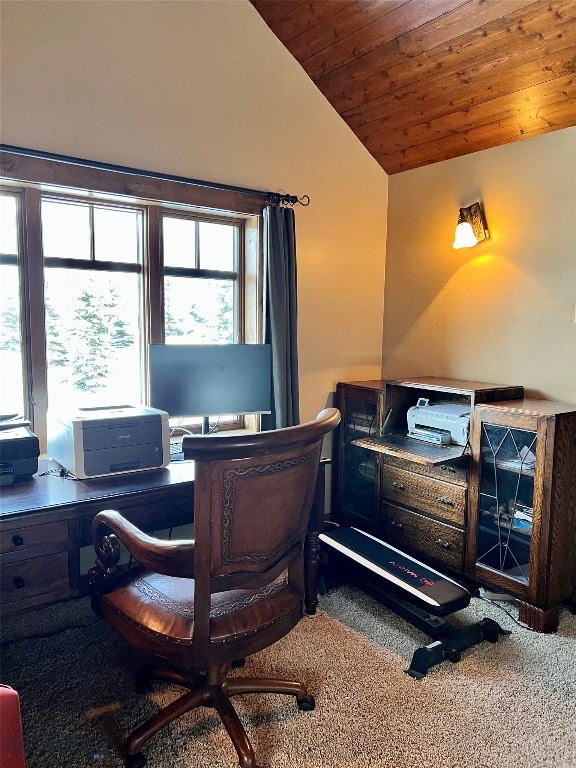
[[[105,575],[110,575],[118,565],[119,540],[132,557],[148,570],[166,576],[194,578],[193,539],[165,541],[149,536],[112,509],[96,515],[92,523],[92,539],[98,566]]]

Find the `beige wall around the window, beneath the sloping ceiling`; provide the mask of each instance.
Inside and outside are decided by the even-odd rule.
[[[247,0],[3,2],[7,144],[311,197],[301,415],[381,367],[388,177]]]

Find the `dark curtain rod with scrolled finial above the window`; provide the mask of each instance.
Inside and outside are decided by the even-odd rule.
[[[15,147],[11,144],[1,144],[0,152],[6,152],[9,154],[27,155],[28,157],[36,157],[42,160],[56,160],[61,163],[70,163],[73,165],[81,165],[87,168],[97,168],[103,171],[115,171],[116,173],[126,173],[133,176],[146,176],[151,179],[159,179],[160,181],[175,181],[181,184],[191,184],[196,187],[206,187],[207,189],[221,189],[226,192],[241,192],[246,195],[257,195],[259,197],[266,198],[266,202],[269,205],[309,205],[310,198],[308,195],[303,195],[299,198],[295,195],[282,195],[277,192],[266,192],[260,189],[249,189],[247,187],[235,187],[230,184],[217,184],[212,181],[201,181],[200,179],[190,179],[186,176],[174,176],[166,173],[155,173],[154,171],[142,171],[138,168],[130,168],[125,165],[113,165],[111,163],[100,163],[96,160],[84,160],[78,157],[70,157],[68,155],[59,155],[53,152],[43,152],[37,149],[25,149],[23,147]]]

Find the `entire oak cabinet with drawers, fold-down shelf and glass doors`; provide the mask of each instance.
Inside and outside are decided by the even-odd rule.
[[[338,384],[332,519],[517,596],[521,620],[551,631],[576,590],[576,406],[518,401],[523,394],[430,377]],[[408,437],[407,412],[420,398],[468,404],[472,448]],[[518,470],[519,454],[498,452],[498,435],[487,438],[494,430],[504,448],[508,435],[533,452],[533,467]]]

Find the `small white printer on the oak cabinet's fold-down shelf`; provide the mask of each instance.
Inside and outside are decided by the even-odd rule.
[[[429,443],[466,445],[470,406],[462,403],[434,403],[425,397],[408,408],[408,436]]]

